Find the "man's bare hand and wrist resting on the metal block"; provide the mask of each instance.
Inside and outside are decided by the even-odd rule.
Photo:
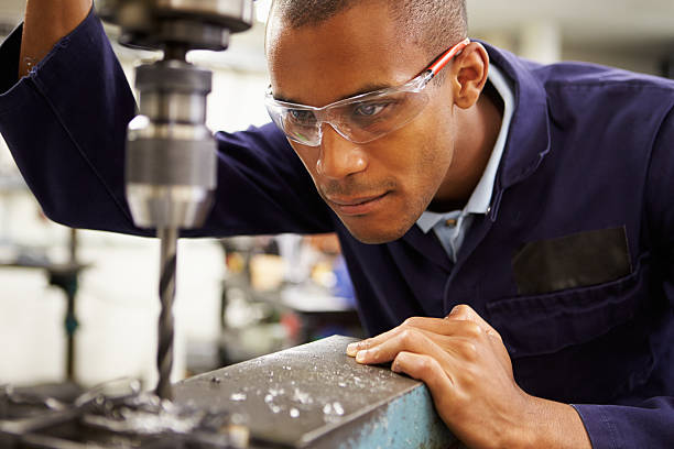
[[[471,448],[591,448],[576,410],[533,397],[515,383],[501,336],[470,307],[444,319],[410,318],[358,343],[359,363],[423,381],[450,430]]]

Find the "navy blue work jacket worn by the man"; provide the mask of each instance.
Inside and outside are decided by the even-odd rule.
[[[148,236],[124,198],[134,100],[100,22],[17,80],[20,40],[0,47],[0,132],[45,213]],[[271,124],[216,134],[216,207],[186,234],[335,231],[371,333],[469,304],[502,335],[518,384],[575,404],[595,448],[674,447],[674,83],[486,46],[515,110],[491,207],[455,264],[416,226],[354,239]]]

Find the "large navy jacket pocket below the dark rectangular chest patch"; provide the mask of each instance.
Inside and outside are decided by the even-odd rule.
[[[518,383],[531,394],[598,403],[624,393],[652,370],[649,258],[621,278],[486,305]]]

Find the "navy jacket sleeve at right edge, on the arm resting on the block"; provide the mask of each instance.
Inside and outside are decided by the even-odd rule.
[[[674,103],[674,85],[668,92]],[[663,101],[665,98],[663,97]],[[659,276],[667,304],[662,305],[663,319],[674,320],[674,109],[670,110],[651,152],[645,193],[645,220],[652,256],[657,261]],[[659,286],[660,288],[660,286]],[[670,326],[672,329],[672,326]],[[671,385],[674,377],[674,332],[652,341],[662,364],[657,385]],[[664,373],[664,374],[663,374]],[[655,396],[634,405],[574,405],[580,415],[595,449],[671,448],[674,446],[674,391],[660,390]],[[632,403],[632,401],[624,401]]]

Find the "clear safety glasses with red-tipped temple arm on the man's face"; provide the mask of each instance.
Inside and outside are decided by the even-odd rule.
[[[323,108],[275,100],[270,87],[267,110],[291,141],[303,145],[320,145],[324,123],[329,123],[339,135],[354,143],[372,142],[399,130],[421,113],[428,103],[424,88],[469,43],[466,39],[454,45],[402,86],[345,98]]]

